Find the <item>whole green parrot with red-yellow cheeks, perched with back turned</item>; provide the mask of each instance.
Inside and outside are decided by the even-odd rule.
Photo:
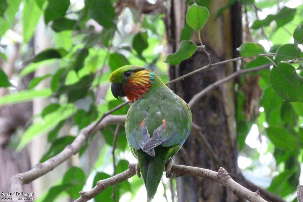
[[[154,72],[143,67],[125,65],[113,71],[109,81],[114,97],[126,96],[131,103],[126,139],[139,162],[150,202],[166,160],[179,151],[190,134],[191,110]]]

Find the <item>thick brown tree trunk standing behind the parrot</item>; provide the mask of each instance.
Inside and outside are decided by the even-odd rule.
[[[241,44],[241,7],[235,5],[233,11],[226,9],[221,17],[216,18],[216,13],[227,0],[212,0],[209,6],[210,18],[201,30],[201,38],[206,50],[211,55],[213,63],[235,57],[235,48],[238,41]],[[182,27],[185,24],[186,1],[171,0],[166,15],[167,37],[170,46],[169,53],[178,48],[178,41]],[[178,12],[176,12],[178,11]],[[180,12],[181,11],[181,12]],[[231,15],[232,13],[232,15]],[[239,22],[237,31],[233,24]],[[180,26],[181,25],[181,26]],[[240,34],[240,35],[239,35]],[[234,41],[233,41],[234,40]],[[198,37],[194,35],[193,41],[198,44]],[[174,79],[188,72],[194,71],[208,64],[207,56],[203,50],[198,50],[191,58],[181,62],[180,65],[170,67],[170,78]],[[208,85],[218,81],[235,71],[233,64],[215,66],[196,75],[185,78],[183,81],[170,87],[186,102]],[[184,151],[178,155],[178,163],[208,168],[217,171],[224,167],[229,173],[239,174],[237,164],[238,148],[236,139],[235,120],[235,93],[234,81],[221,85],[205,95],[191,108],[193,122],[202,128],[203,134],[210,143],[213,156],[199,142],[199,133],[192,130],[185,142]],[[184,153],[187,153],[184,154]],[[188,156],[189,158],[184,158]],[[232,191],[211,180],[197,177],[178,178],[179,201],[239,201]]]

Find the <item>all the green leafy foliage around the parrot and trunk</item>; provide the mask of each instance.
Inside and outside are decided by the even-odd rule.
[[[44,162],[71,144],[75,133],[79,133],[103,113],[121,104],[123,101],[116,100],[108,90],[108,76],[117,68],[128,64],[141,65],[154,71],[163,81],[167,81],[168,64],[178,65],[195,54],[199,48],[204,48],[193,41],[203,41],[203,36],[200,38],[198,31],[208,22],[211,1],[187,0],[186,25],[181,31],[180,39],[176,41],[176,44],[180,42],[179,48],[166,58],[163,53],[166,53],[166,43],[170,39],[165,37],[163,14],[151,12],[152,14],[145,14],[141,18],[133,8],[119,11],[117,2],[85,0],[71,4],[69,0],[1,1],[1,43],[12,41],[10,46],[0,44],[0,56],[3,59],[1,62],[8,63],[11,50],[20,43],[20,58],[15,64],[22,65],[14,69],[14,76],[5,75],[0,69],[0,87],[6,88],[8,92],[0,98],[0,105],[32,101],[35,98],[51,100],[39,114],[34,114],[35,121],[25,129],[17,147],[18,151],[38,135],[47,134],[48,145],[41,158],[41,162]],[[236,2],[229,0],[222,8],[218,8],[217,13],[211,14],[220,18]],[[289,198],[298,185],[302,163],[302,5],[290,8],[285,1],[281,1],[281,4],[285,5],[277,9],[274,0],[240,2],[246,8],[243,19],[247,17],[252,22],[252,25],[245,22],[248,23],[245,35],[251,40],[237,49],[242,57],[252,58],[243,58],[241,68],[272,65],[271,68],[248,75],[258,78],[257,86],[262,91],[261,97],[254,100],[257,110],[254,110],[255,113],[250,119],[245,112],[248,95],[243,90],[247,78],[241,77],[235,85],[240,155],[252,160],[251,166],[243,170],[254,172],[260,168],[261,157],[271,154],[273,160],[268,167],[274,172],[266,176],[271,181],[268,183],[268,190],[280,197]],[[269,11],[272,13],[268,14]],[[260,18],[255,16],[256,13],[266,15]],[[38,27],[41,16],[44,16],[44,23],[47,25],[43,30],[45,35],[51,36],[49,41],[52,46],[37,51],[36,44],[33,45],[36,43],[33,34],[35,30],[42,29]],[[18,33],[18,30],[22,30],[19,34],[23,37],[21,39],[12,35]],[[198,40],[196,35],[199,36]],[[192,38],[195,40],[191,40]],[[33,74],[38,68],[45,66],[49,71],[44,75]],[[16,77],[22,79],[18,86],[13,82],[19,81]],[[23,82],[25,85],[22,86]],[[42,83],[49,85],[41,89],[39,86]],[[128,107],[126,105],[113,114],[126,114]],[[248,136],[251,136],[254,127],[258,128],[259,134],[259,139],[255,141],[261,146],[267,145],[264,151],[260,151],[261,146],[257,149],[249,146]],[[75,199],[79,197],[78,192],[82,190],[86,180],[89,186],[95,186],[98,180],[111,177],[112,157],[108,154],[112,150],[115,130],[115,125],[109,125],[101,131],[101,135],[97,131],[82,146],[81,159],[87,158],[87,147],[96,143],[96,139],[100,141],[98,144],[102,145],[101,149],[98,147],[95,151],[102,152],[93,169],[87,165],[81,165],[81,168],[70,167],[62,180],[47,190],[43,201],[59,200],[62,193]],[[123,160],[126,154],[130,153],[124,131],[125,128],[121,127],[115,145],[115,173],[120,173],[128,167],[128,161]],[[91,175],[93,180],[86,179],[85,176],[88,175]],[[131,193],[133,198],[142,185],[142,180],[135,177],[131,179],[131,183],[124,181],[117,184],[117,201],[127,192]],[[95,197],[95,201],[112,201],[112,192],[113,187],[108,187]]]

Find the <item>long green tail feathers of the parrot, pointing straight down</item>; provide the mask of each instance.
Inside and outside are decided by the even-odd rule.
[[[137,150],[140,171],[147,192],[147,202],[154,198],[164,171],[167,149],[162,148],[155,149],[155,157],[146,154],[141,149]]]

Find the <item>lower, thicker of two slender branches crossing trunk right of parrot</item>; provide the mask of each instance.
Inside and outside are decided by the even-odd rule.
[[[265,68],[268,68],[269,65],[261,65],[261,66],[258,66],[258,67],[254,67],[254,68],[249,68],[249,69],[243,69],[243,70],[239,70],[239,71],[236,71],[234,73],[232,73],[231,75],[223,78],[223,79],[220,79],[218,81],[216,81],[215,83],[209,85],[208,87],[204,88],[202,91],[200,91],[199,93],[195,94],[193,98],[191,98],[191,100],[188,102],[188,106],[190,108],[192,108],[195,103],[203,96],[205,95],[206,93],[208,93],[211,89],[214,89],[216,88],[218,85],[220,84],[223,84],[227,81],[230,81],[231,79],[239,76],[239,75],[242,75],[242,74],[246,74],[246,73],[249,73],[249,72],[253,72],[253,71],[259,71],[259,70],[262,70],[262,69],[265,69]]]

